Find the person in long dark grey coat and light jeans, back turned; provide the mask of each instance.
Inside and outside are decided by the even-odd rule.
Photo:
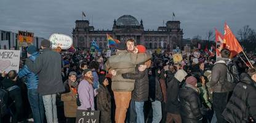
[[[64,92],[62,81],[62,56],[50,49],[50,41],[41,42],[42,54],[33,62],[26,59],[25,65],[31,72],[38,74],[38,93],[42,95],[46,120],[48,123],[58,122],[56,95]]]

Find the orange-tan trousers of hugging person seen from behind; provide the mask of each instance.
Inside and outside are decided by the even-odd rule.
[[[116,103],[116,123],[124,123],[126,119],[127,108],[129,108],[132,92],[114,92],[114,100]]]

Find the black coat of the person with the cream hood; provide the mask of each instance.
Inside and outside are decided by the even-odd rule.
[[[172,81],[167,83],[166,109],[168,113],[179,114],[179,108],[180,108],[180,102],[178,102],[179,90],[180,90],[180,82],[174,77]]]

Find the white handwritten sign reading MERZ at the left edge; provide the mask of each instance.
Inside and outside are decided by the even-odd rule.
[[[20,50],[0,50],[0,72],[18,71],[20,65]]]

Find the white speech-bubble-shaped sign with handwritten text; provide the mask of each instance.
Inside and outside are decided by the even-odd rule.
[[[52,42],[52,49],[57,49],[57,47],[70,49],[73,44],[73,39],[65,34],[54,33],[50,36],[49,40]]]

